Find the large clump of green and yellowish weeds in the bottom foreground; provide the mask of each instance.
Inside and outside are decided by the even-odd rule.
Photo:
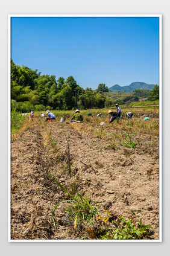
[[[74,223],[74,229],[76,229],[77,225],[80,223],[81,225],[84,225],[86,231],[90,235],[90,238],[102,240],[134,240],[145,238],[146,235],[149,234],[149,229],[152,227],[150,225],[143,225],[142,219],[140,219],[137,225],[135,225],[132,220],[125,220],[124,216],[113,220],[113,217],[110,217],[111,213],[106,210],[104,210],[106,216],[105,214],[99,215],[99,205],[93,206],[92,203],[90,204],[89,197],[83,196],[83,194],[79,194],[75,191],[75,180],[73,185],[73,194],[69,193],[58,181],[55,179],[54,181],[71,197],[71,200],[64,200],[61,202],[69,202],[70,204],[64,208],[65,213],[68,214],[68,222]],[[54,213],[59,204],[60,203],[58,203],[52,211],[54,226]],[[136,211],[131,211],[131,213],[134,214]],[[101,225],[96,226],[96,222],[102,222],[104,223],[104,226],[102,223]],[[85,234],[86,238],[89,237],[88,234]]]

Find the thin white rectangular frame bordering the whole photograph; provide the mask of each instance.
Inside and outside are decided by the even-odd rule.
[[[11,240],[10,235],[10,58],[11,58],[11,18],[13,17],[157,17],[159,18],[159,240]],[[8,14],[8,242],[112,242],[112,243],[142,243],[162,242],[162,14]]]

